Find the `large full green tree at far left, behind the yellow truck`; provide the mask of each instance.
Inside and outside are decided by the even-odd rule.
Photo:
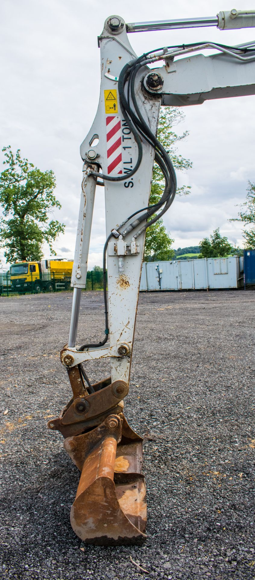
[[[53,191],[56,179],[53,171],[42,172],[22,159],[20,149],[14,156],[10,146],[3,147],[6,169],[0,174],[0,203],[3,218],[0,220],[0,242],[5,248],[8,262],[14,260],[40,260],[42,244],[52,244],[64,232],[64,224],[49,222],[49,212],[61,208]]]

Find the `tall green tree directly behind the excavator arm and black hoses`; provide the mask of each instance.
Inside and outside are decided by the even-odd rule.
[[[177,135],[173,130],[173,126],[177,125],[184,119],[184,114],[178,107],[161,107],[160,119],[158,122],[157,138],[163,147],[167,150],[171,157],[173,166],[179,171],[186,171],[192,167],[192,162],[185,159],[178,154],[176,143],[182,141],[189,135],[188,131],[184,131],[182,135]],[[164,177],[157,164],[153,166],[153,176],[150,191],[150,205],[156,204],[162,195],[164,187]],[[179,195],[189,194],[190,186],[179,187],[177,193]],[[145,238],[145,262],[154,260],[169,260],[175,255],[171,248],[173,243],[171,234],[165,229],[163,220],[159,219],[156,223],[146,230]]]

